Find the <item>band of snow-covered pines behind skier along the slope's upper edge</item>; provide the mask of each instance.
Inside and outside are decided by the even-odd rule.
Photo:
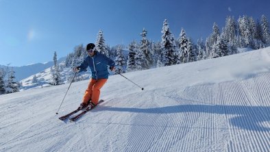
[[[125,58],[123,45],[109,47],[106,45],[103,31],[97,34],[96,50],[114,58],[116,71],[125,73],[128,71],[140,71],[160,66],[171,66],[219,58],[225,55],[238,53],[237,48],[260,49],[270,45],[269,23],[267,17],[262,15],[260,20],[243,15],[238,20],[234,16],[225,18],[225,27],[219,28],[213,23],[212,34],[193,42],[188,38],[182,28],[179,38],[175,38],[169,29],[169,22],[164,20],[160,42],[154,42],[147,38],[147,29],[143,28],[140,42],[133,40],[128,45],[128,55]],[[66,66],[77,66],[86,57],[83,45],[75,47],[73,53],[67,55]]]

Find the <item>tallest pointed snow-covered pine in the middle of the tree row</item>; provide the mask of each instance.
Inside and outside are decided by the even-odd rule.
[[[171,66],[179,62],[179,53],[177,53],[177,47],[175,45],[175,38],[169,29],[169,23],[167,19],[163,22],[162,27],[162,63],[164,66]]]

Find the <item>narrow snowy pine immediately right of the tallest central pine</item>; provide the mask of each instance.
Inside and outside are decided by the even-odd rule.
[[[186,38],[186,31],[182,28],[179,38],[179,49],[180,49],[180,62],[188,62],[188,39]]]

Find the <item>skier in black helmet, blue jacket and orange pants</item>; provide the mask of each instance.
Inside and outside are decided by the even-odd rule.
[[[114,61],[96,51],[93,43],[86,45],[86,51],[88,52],[88,57],[80,66],[73,68],[75,72],[82,72],[86,71],[86,68],[89,66],[92,73],[83,101],[79,105],[79,110],[82,110],[84,107],[91,109],[99,103],[100,89],[109,77],[108,66],[110,66],[111,71],[115,70]]]

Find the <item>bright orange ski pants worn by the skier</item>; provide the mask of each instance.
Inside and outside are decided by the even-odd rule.
[[[84,93],[83,103],[88,103],[88,101],[91,99],[91,101],[97,105],[99,102],[100,89],[106,83],[106,81],[107,79],[90,79],[88,88]]]

